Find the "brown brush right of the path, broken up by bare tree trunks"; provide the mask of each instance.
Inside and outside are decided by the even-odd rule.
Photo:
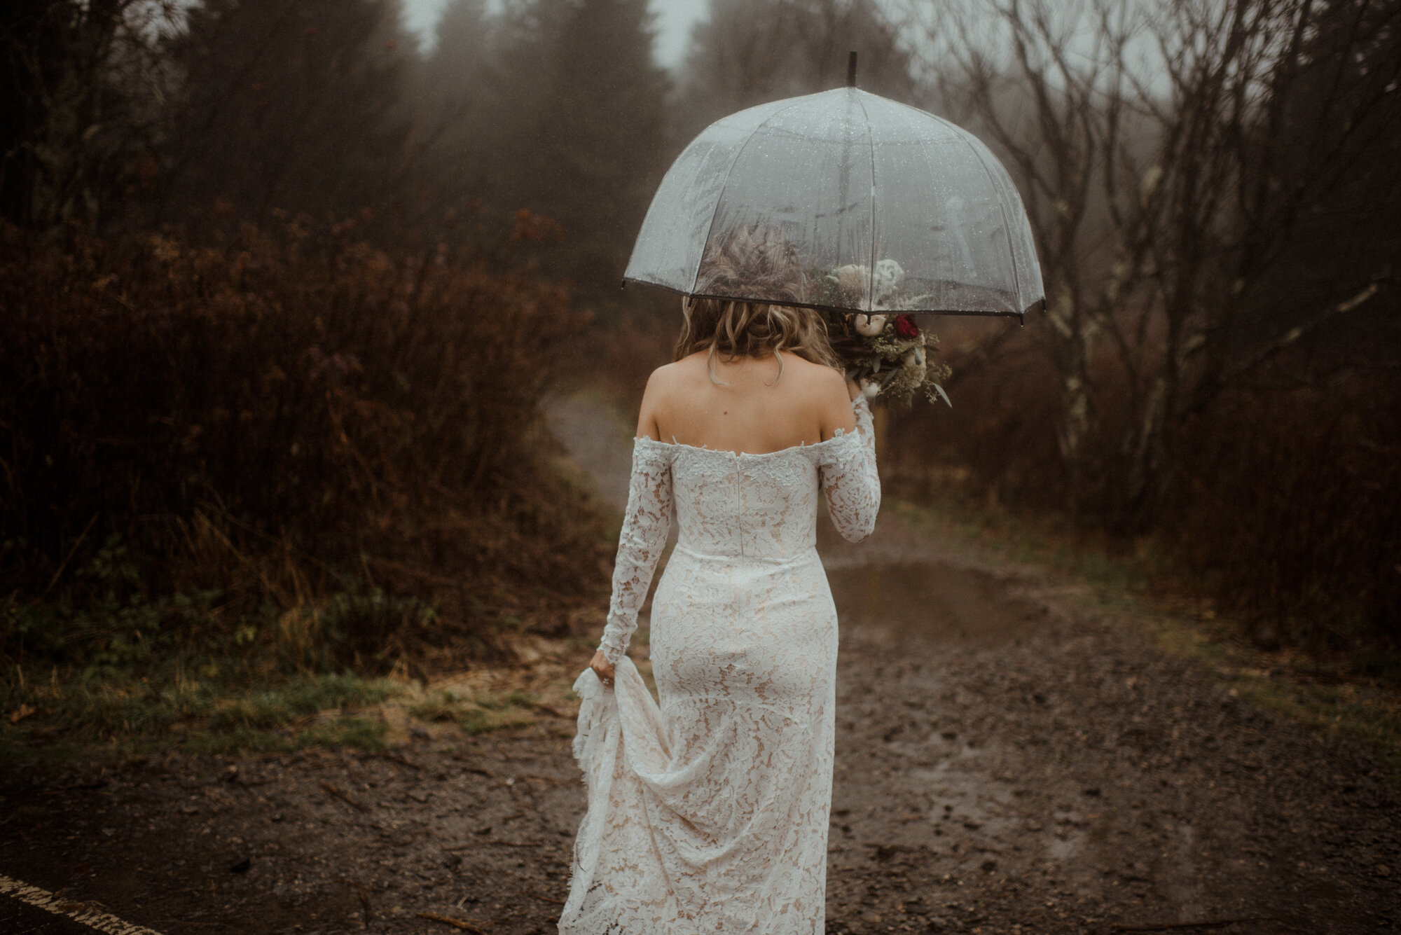
[[[913,500],[961,498],[1073,519],[1108,547],[1122,507],[1115,470],[1125,375],[1096,361],[1101,406],[1079,516],[1056,449],[1058,386],[1031,326],[1005,340],[981,323],[934,325],[954,349],[954,409],[892,409],[881,476]],[[969,349],[996,344],[979,360]],[[1373,368],[1304,382],[1303,354],[1224,393],[1174,435],[1166,508],[1147,532],[1167,579],[1238,616],[1264,645],[1318,652],[1401,649],[1401,393]]]

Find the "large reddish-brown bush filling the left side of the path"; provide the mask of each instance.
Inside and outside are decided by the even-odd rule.
[[[0,230],[3,592],[76,595],[113,536],[147,593],[409,593],[441,607],[419,634],[440,644],[597,591],[598,525],[538,413],[583,316],[523,270],[346,227]],[[377,626],[356,652],[405,638]]]

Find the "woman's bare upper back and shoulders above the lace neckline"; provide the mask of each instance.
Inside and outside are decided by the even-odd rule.
[[[768,454],[856,427],[842,375],[779,351],[708,360],[705,351],[657,368],[647,381],[637,437],[696,448]],[[712,379],[712,367],[715,378]],[[717,382],[719,381],[719,382]]]

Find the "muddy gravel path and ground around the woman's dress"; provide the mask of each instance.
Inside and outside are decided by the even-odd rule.
[[[626,433],[555,416],[625,493]],[[1367,749],[890,516],[834,539],[828,932],[1401,931],[1401,808]],[[532,655],[558,689],[588,654]],[[552,932],[584,803],[570,714],[405,724],[385,754],[6,771],[0,873],[160,932]],[[0,897],[0,931],[90,929]]]

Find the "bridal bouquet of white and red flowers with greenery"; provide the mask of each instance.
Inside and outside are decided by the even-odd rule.
[[[824,305],[850,305],[871,279],[871,270],[855,263],[813,276],[818,284],[818,301]],[[915,393],[929,402],[953,402],[940,386],[953,371],[946,364],[933,363],[929,354],[939,347],[939,339],[920,330],[912,315],[898,312],[895,302],[904,270],[895,260],[876,263],[876,307],[881,311],[834,312],[822,309],[832,350],[842,358],[848,379],[855,379],[867,399],[904,399],[909,403]],[[891,307],[895,305],[892,309]]]

